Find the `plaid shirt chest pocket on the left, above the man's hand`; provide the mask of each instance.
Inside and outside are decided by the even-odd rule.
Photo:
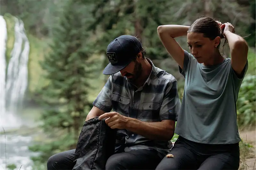
[[[120,95],[118,93],[112,93],[113,111],[121,115],[127,116],[130,102],[131,102],[131,99],[129,97]]]

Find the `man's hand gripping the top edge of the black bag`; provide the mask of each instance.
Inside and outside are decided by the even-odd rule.
[[[100,115],[99,120],[107,118],[105,122],[111,129],[126,129],[127,117],[117,112],[109,112]]]

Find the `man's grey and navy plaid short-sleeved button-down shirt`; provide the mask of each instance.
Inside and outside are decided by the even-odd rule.
[[[121,73],[111,75],[93,102],[105,112],[113,111],[144,122],[177,121],[180,99],[177,80],[169,73],[152,65],[152,71],[145,84],[137,89]],[[128,130],[118,130],[125,135],[125,151],[155,149],[167,154],[169,141],[151,140]]]

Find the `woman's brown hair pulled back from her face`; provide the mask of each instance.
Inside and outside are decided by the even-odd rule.
[[[204,37],[209,38],[210,40],[214,40],[217,36],[219,36],[221,39],[225,38],[223,36],[223,30],[221,30],[218,23],[210,17],[201,17],[196,19],[194,23],[189,27],[188,33],[189,32],[203,33]],[[222,46],[223,54],[226,43],[228,43],[227,39],[225,39]],[[220,48],[220,43],[217,48]]]

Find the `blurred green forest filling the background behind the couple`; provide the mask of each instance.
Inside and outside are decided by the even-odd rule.
[[[31,47],[29,91],[40,90],[37,95],[44,106],[41,116],[42,127],[45,132],[51,134],[50,138],[54,139],[44,145],[30,148],[35,152],[42,152],[42,157],[33,158],[36,165],[47,161],[54,153],[74,148],[77,133],[91,108],[92,100],[104,85],[103,79],[106,76],[103,77],[99,71],[107,65],[108,60],[107,57],[103,57],[105,61],[102,62],[100,57],[102,54],[105,55],[108,43],[114,38],[122,34],[136,35],[140,38],[143,46],[146,47],[147,57],[179,81],[180,99],[183,95],[184,78],[180,75],[176,62],[168,55],[159,40],[156,33],[157,26],[191,25],[199,16],[208,14],[223,23],[231,22],[236,27],[236,32],[242,36],[251,34],[246,40],[249,45],[255,46],[255,1],[222,1],[221,3],[219,0],[211,1],[210,11],[207,11],[206,5],[203,4],[205,2],[203,0],[45,0],[31,3],[26,0],[1,1],[1,14],[9,12],[18,16],[29,30]],[[249,8],[252,11],[249,11]],[[8,15],[5,15],[5,18],[9,25],[8,59],[14,42],[12,31],[14,24],[13,18]],[[41,39],[44,36],[51,38],[52,43]],[[186,37],[176,40],[188,50]],[[51,47],[50,53],[48,45]],[[41,63],[43,71],[37,64],[39,60],[43,60]],[[237,101],[239,124],[255,123],[255,77],[250,76],[255,75],[255,50],[248,54],[248,61],[248,75],[243,81]],[[97,71],[94,71],[95,69]],[[46,75],[41,76],[44,73]],[[98,73],[101,76],[96,80]],[[93,95],[89,96],[89,93]],[[174,134],[172,142],[176,141],[177,137],[178,135]],[[41,167],[41,169],[45,168]]]

